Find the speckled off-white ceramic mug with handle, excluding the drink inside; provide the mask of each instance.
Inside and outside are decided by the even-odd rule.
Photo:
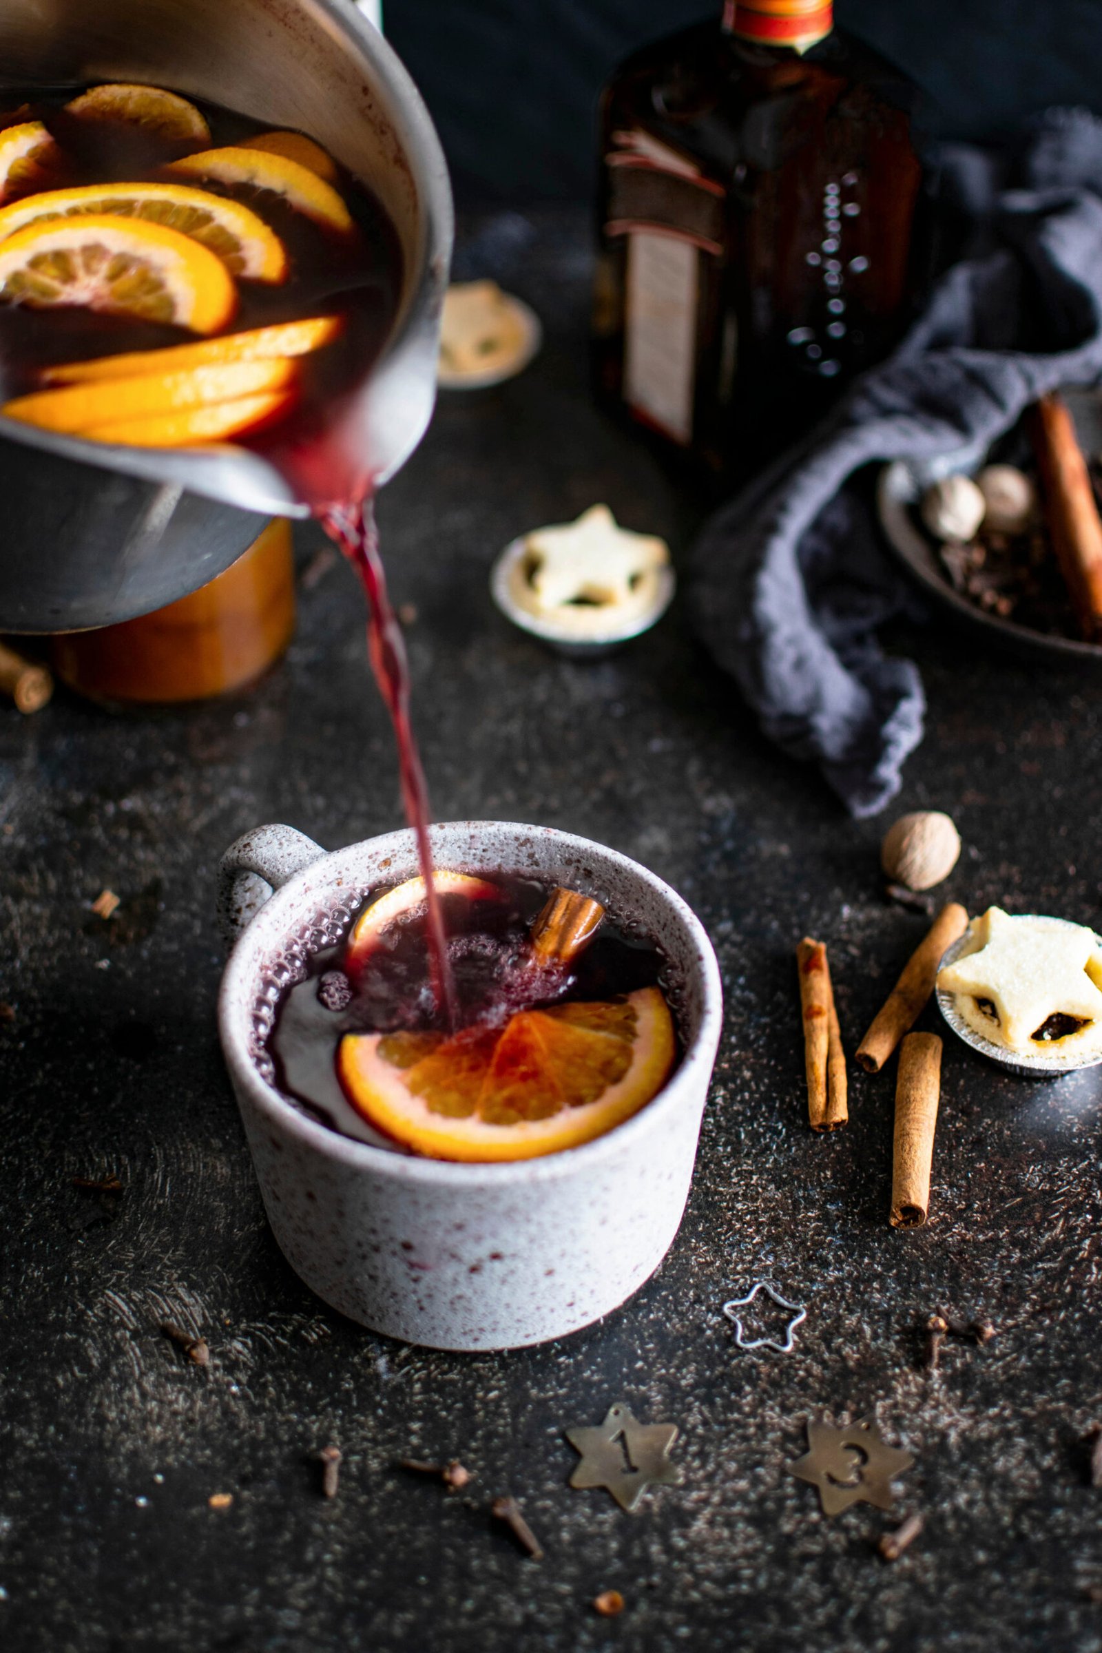
[[[238,838],[220,868],[220,912],[235,944],[218,1005],[221,1046],[268,1218],[306,1284],[388,1337],[514,1349],[608,1314],[669,1250],[719,1043],[719,967],[681,896],[615,850],[502,822],[453,822],[431,838],[438,866],[568,884],[658,942],[684,1055],[654,1101],[582,1147],[463,1165],[352,1141],[274,1088],[264,1040],[279,992],[370,889],[418,871],[410,831],[332,855],[291,826]]]

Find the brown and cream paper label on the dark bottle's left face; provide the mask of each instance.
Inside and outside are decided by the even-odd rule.
[[[687,446],[701,258],[722,255],[725,190],[649,132],[615,132],[613,144],[605,233],[628,238],[623,397]]]

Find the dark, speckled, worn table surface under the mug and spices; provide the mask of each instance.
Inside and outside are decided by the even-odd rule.
[[[469,245],[469,243],[468,243]],[[297,638],[253,693],[107,716],[63,693],[0,711],[5,1286],[0,1643],[121,1648],[1102,1648],[1102,1069],[1011,1079],[945,1050],[929,1227],[887,1227],[892,1074],[806,1129],[793,967],[831,946],[849,1048],[924,929],[881,896],[886,822],[851,823],[778,757],[674,607],[596,665],[491,607],[515,532],[606,499],[686,549],[694,507],[590,405],[580,222],[499,223],[492,260],[547,322],[519,380],[441,402],[380,506],[439,818],[545,822],[681,889],[719,950],[727,1025],[692,1198],[620,1312],[517,1354],[401,1347],[329,1312],[269,1236],[223,1073],[213,868],[245,828],[335,846],[398,790],[350,572],[316,532]],[[1102,678],[980,653],[938,626],[927,739],[899,808],[937,807],[970,911],[1099,922]],[[89,912],[107,886],[111,921]],[[929,1012],[922,1025],[935,1027]],[[122,1195],[74,1177],[117,1175]],[[770,1276],[808,1304],[790,1355],[739,1354],[720,1306]],[[932,1309],[996,1327],[950,1341]],[[159,1332],[203,1332],[210,1365]],[[684,1484],[634,1516],[572,1491],[563,1427],[613,1400],[674,1422]],[[892,1514],[826,1519],[785,1473],[805,1420],[876,1413],[915,1455]],[[344,1451],[321,1496],[319,1448]],[[463,1494],[395,1471],[461,1458]],[[211,1494],[231,1493],[225,1509]],[[487,1504],[515,1494],[545,1560]],[[874,1544],[910,1511],[894,1565]],[[600,1590],[626,1607],[601,1620]]]

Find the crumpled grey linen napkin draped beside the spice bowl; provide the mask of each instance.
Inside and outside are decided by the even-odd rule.
[[[857,817],[899,792],[925,698],[917,666],[886,660],[876,638],[909,587],[879,542],[872,473],[854,473],[978,458],[1046,390],[1102,375],[1102,122],[1051,111],[1026,187],[990,203],[975,157],[955,170],[958,200],[991,208],[995,251],[942,278],[895,354],[705,524],[691,567],[696,626],[765,734],[818,760]]]

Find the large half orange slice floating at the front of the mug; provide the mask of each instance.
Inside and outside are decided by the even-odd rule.
[[[535,1159],[603,1136],[669,1078],[674,1023],[658,987],[600,1003],[520,1010],[504,1028],[345,1033],[352,1106],[415,1154]]]

